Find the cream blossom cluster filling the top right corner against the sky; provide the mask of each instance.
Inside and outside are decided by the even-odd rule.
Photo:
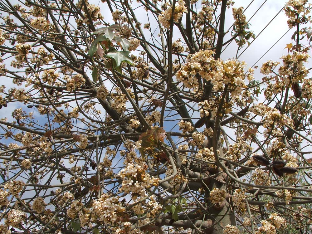
[[[308,0],[290,0],[284,7],[285,15],[288,17],[288,27],[292,28],[297,24],[306,24],[311,22],[311,16],[308,14],[312,8]]]

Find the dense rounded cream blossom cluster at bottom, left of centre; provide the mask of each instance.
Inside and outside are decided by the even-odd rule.
[[[99,217],[99,221],[105,224],[114,224],[125,208],[119,202],[119,197],[111,197],[109,194],[103,194],[100,199],[93,200],[93,210]]]

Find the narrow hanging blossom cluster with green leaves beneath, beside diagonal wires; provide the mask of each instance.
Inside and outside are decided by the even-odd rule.
[[[235,19],[232,35],[236,33],[239,35],[239,37],[235,38],[235,41],[240,47],[244,46],[250,38],[255,38],[255,34],[252,31],[248,31],[249,25],[246,21],[246,16],[243,14],[243,10],[243,7],[232,8],[232,14]]]

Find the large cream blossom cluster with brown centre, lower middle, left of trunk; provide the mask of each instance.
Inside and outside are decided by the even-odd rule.
[[[132,199],[136,200],[138,196],[145,196],[145,189],[158,185],[159,178],[150,176],[146,173],[147,165],[144,162],[127,163],[118,176],[122,179],[120,191],[132,193]]]

